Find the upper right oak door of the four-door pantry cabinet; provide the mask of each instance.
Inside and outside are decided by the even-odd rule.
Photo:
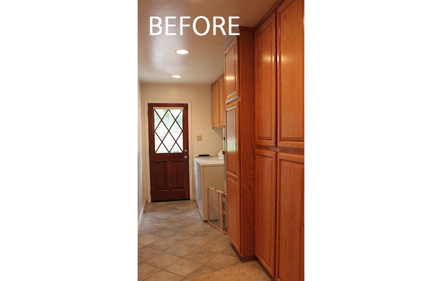
[[[278,147],[304,148],[304,2],[277,9]]]

